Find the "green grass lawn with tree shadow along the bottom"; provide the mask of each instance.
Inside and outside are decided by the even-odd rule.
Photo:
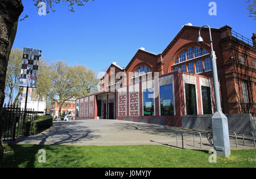
[[[39,163],[38,151],[46,151]],[[39,146],[9,144],[3,167],[256,167],[256,150],[234,150],[229,159],[217,157],[209,163],[208,151],[180,150],[166,146]]]

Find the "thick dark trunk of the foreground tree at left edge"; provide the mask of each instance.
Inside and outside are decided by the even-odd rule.
[[[18,19],[23,11],[21,0],[1,0],[0,2],[0,84],[5,84],[6,70],[13,42],[16,36]],[[5,101],[5,85],[0,86],[0,110]],[[2,120],[0,118],[0,120]],[[0,135],[1,135],[0,130]],[[0,143],[0,167],[3,162],[3,146]]]

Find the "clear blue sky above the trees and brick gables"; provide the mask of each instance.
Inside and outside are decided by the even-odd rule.
[[[217,0],[210,16],[209,0],[89,0],[84,7],[56,5],[39,16],[32,0],[23,0],[13,48],[40,49],[51,62],[85,65],[100,72],[112,62],[126,66],[141,47],[162,53],[184,24],[220,28],[226,24],[251,38],[256,21],[248,17],[246,0]],[[6,97],[7,98],[7,97]]]

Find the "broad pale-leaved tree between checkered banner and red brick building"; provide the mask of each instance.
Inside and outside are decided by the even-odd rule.
[[[97,92],[97,84],[98,79],[91,69],[82,65],[68,66],[57,61],[39,67],[38,83],[33,96],[55,101],[59,105],[60,117],[65,101]]]

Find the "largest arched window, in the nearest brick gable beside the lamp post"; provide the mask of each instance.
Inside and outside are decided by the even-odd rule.
[[[185,49],[177,56],[172,71],[184,71],[188,73],[204,73],[212,70],[212,62],[209,52],[199,46]]]

